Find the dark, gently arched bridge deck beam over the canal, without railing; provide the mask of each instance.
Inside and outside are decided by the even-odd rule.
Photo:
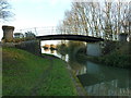
[[[83,35],[45,35],[45,36],[36,36],[36,39],[39,39],[39,40],[79,40],[79,41],[86,41],[86,42],[104,41],[103,38],[83,36]]]

